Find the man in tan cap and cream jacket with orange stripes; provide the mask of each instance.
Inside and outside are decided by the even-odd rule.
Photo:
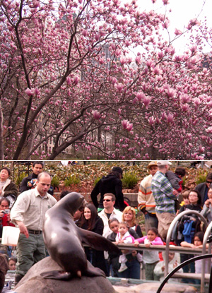
[[[158,171],[157,161],[150,162],[147,168],[150,174],[141,181],[138,195],[139,209],[143,212],[145,217],[146,232],[148,232],[148,229],[151,227],[158,229],[158,218],[155,214],[155,198],[153,197],[153,193],[151,191],[153,176]]]

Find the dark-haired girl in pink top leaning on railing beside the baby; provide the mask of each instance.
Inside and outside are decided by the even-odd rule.
[[[155,227],[148,229],[146,236],[134,241],[134,246],[139,246],[139,244],[145,244],[146,247],[150,247],[151,245],[163,245],[163,241],[158,235],[158,229]],[[146,280],[158,280],[154,275],[155,265],[160,261],[158,251],[143,251],[143,261],[145,263]]]

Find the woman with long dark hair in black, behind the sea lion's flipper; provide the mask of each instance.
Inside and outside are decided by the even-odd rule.
[[[81,220],[81,228],[86,229],[97,234],[102,235],[104,224],[102,219],[98,216],[95,205],[88,203],[84,209],[83,217]],[[85,247],[86,256],[88,261],[97,268],[100,268],[107,274],[107,269],[105,265],[104,251],[96,251],[95,249],[90,249],[90,247]]]

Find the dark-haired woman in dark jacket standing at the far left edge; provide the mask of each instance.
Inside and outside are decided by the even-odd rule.
[[[8,169],[8,167],[1,168],[0,171],[0,196],[4,198],[8,198],[12,207],[14,201],[16,201],[16,198],[18,196],[18,189],[16,187],[16,184],[14,184],[11,179],[8,179],[11,175],[11,170]]]

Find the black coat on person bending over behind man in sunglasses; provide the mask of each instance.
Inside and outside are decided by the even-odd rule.
[[[100,193],[100,203],[98,203],[98,194]],[[102,177],[100,181],[95,185],[93,191],[90,194],[90,197],[93,201],[93,204],[96,208],[103,207],[103,197],[105,193],[113,193],[116,197],[116,202],[114,208],[119,210],[124,210],[126,205],[124,203],[124,196],[122,193],[122,180],[114,176],[113,174],[108,174],[106,177]]]

